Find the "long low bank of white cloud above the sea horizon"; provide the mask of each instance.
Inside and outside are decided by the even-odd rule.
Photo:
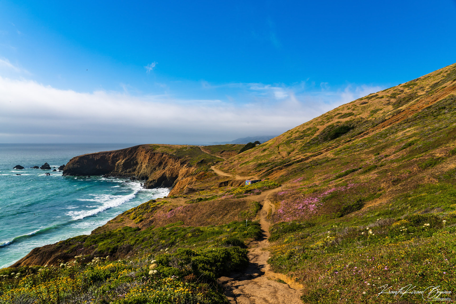
[[[301,84],[295,88],[243,86],[250,89],[243,96],[247,102],[226,102],[132,96],[126,90],[78,93],[0,77],[0,142],[192,144],[281,134],[382,89],[347,86],[340,92],[315,93],[300,91]]]

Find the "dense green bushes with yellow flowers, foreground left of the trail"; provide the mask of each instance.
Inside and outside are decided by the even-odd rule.
[[[179,249],[116,262],[93,259],[60,267],[3,268],[2,304],[218,304],[215,279],[248,264],[240,247]]]

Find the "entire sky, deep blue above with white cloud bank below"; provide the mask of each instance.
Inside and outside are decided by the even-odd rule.
[[[280,134],[456,62],[454,0],[132,2],[0,1],[0,142]]]

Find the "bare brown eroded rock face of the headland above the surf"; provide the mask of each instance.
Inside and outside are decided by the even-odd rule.
[[[138,145],[73,157],[65,165],[63,175],[131,177],[144,180],[146,188],[174,188],[179,181],[192,180],[188,177],[195,169],[186,158],[157,152],[150,145]],[[181,182],[173,192],[182,191],[186,186],[186,182]]]

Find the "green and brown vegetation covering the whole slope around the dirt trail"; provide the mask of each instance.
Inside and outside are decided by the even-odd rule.
[[[420,294],[378,295],[385,285],[454,293],[455,102],[453,64],[344,104],[242,153],[243,145],[228,147],[229,158],[221,146],[150,145],[192,166],[185,175],[179,171],[170,196],[126,211],[90,236],[34,249],[16,268],[2,270],[15,274],[0,278],[0,301],[45,303],[33,286],[48,286],[40,288],[49,294],[56,282],[71,278],[84,282],[74,290],[91,300],[74,302],[69,294],[75,292],[62,291],[66,298],[46,303],[223,303],[225,291],[215,279],[242,272],[245,247],[269,224],[268,263],[302,286],[303,303],[423,302]],[[217,175],[210,165],[230,175]],[[262,181],[246,186],[239,176]],[[211,250],[232,255],[233,263],[208,258]],[[86,262],[70,271],[78,252]],[[109,262],[90,262],[106,256]],[[157,272],[148,274],[141,265],[152,258],[159,261],[151,268]],[[58,266],[57,260],[67,266],[52,268],[52,275],[43,276],[49,268],[31,267]],[[109,274],[88,283],[97,267]],[[170,288],[192,295],[161,294]]]

